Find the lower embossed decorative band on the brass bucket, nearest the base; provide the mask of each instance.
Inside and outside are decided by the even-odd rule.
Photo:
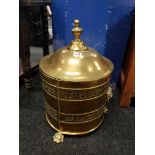
[[[101,117],[105,111],[105,106],[103,105],[99,109],[94,111],[83,113],[83,114],[65,114],[65,113],[58,113],[58,111],[54,110],[46,101],[45,107],[47,113],[57,121],[63,123],[85,123],[91,122],[99,117]],[[60,118],[59,118],[60,117]]]

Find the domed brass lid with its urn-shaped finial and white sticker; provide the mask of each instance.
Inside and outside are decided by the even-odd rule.
[[[82,32],[79,20],[75,20],[72,29],[75,39],[70,45],[42,58],[40,70],[51,78],[72,82],[96,81],[110,75],[112,62],[87,47],[80,40]]]

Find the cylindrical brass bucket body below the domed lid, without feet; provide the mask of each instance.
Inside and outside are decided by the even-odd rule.
[[[63,134],[84,134],[102,122],[110,76],[91,82],[64,82],[41,73],[48,123]],[[59,104],[58,104],[59,102]],[[59,112],[60,111],[60,112]]]

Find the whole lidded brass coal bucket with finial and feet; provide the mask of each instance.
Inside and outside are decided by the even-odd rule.
[[[99,127],[112,97],[113,64],[81,41],[82,32],[75,20],[75,39],[39,64],[46,119],[58,131],[53,137],[57,143],[63,141],[61,134],[86,134]]]

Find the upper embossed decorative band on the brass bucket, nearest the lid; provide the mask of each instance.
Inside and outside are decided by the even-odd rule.
[[[51,95],[54,98],[57,98],[57,88],[49,85],[45,81],[42,82],[43,89],[45,92],[47,92],[49,95]],[[109,87],[109,83],[106,83],[104,85],[100,85],[99,87],[85,89],[81,88],[79,89],[58,89],[59,91],[59,99],[60,100],[85,100],[85,99],[92,99],[97,98],[99,96],[102,96],[106,93],[107,89]]]

